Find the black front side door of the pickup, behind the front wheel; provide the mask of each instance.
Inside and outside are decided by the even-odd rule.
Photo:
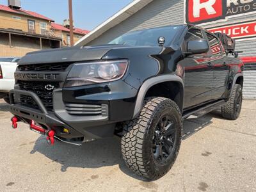
[[[191,28],[184,37],[184,45],[190,40],[204,40],[200,29]],[[211,59],[204,54],[189,55],[184,60],[179,61],[179,65],[184,67],[184,109],[193,108],[204,104],[212,98],[213,70],[209,65]]]

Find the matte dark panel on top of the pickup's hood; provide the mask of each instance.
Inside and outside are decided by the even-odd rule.
[[[94,47],[74,46],[29,52],[20,59],[18,64],[28,65],[100,60],[108,51],[115,47],[124,47],[124,45],[99,45]]]

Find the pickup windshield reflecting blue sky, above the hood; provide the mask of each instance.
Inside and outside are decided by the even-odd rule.
[[[143,31],[134,31],[125,33],[108,44],[132,45],[132,46],[158,46],[158,38],[165,38],[165,45],[169,45],[175,37],[180,26],[167,26],[163,28],[145,29]]]

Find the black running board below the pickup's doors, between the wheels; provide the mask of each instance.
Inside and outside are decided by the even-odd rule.
[[[214,109],[219,108],[223,104],[225,104],[225,100],[219,100],[218,102],[208,104],[208,105],[206,105],[202,108],[198,108],[194,111],[188,111],[188,113],[182,114],[182,120],[184,120],[186,118],[198,118],[200,116],[203,116],[203,115],[213,111]]]

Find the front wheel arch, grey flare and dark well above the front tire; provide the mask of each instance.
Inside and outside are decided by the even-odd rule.
[[[180,112],[182,113],[184,103],[183,79],[175,74],[156,76],[147,79],[138,91],[133,118],[136,118],[136,116],[140,114],[143,107],[143,101],[146,97],[166,97],[172,99],[179,106]]]

